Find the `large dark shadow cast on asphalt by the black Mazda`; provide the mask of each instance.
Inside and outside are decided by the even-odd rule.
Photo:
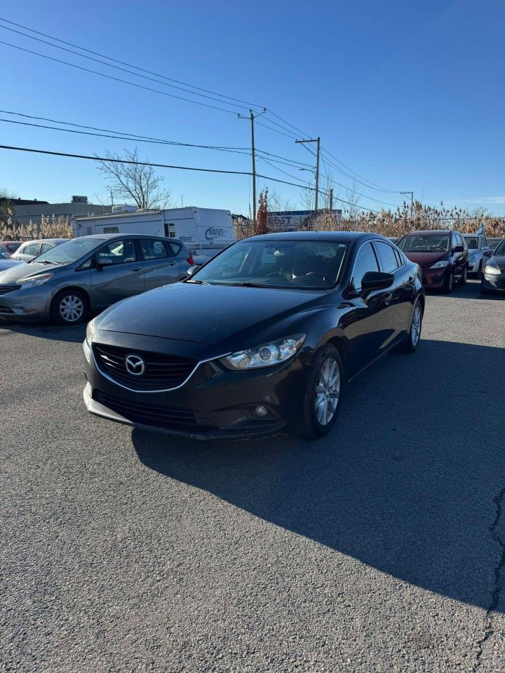
[[[491,526],[505,487],[504,371],[503,348],[426,340],[351,383],[318,442],[198,443],[137,429],[132,440],[157,473],[486,609],[502,552]]]

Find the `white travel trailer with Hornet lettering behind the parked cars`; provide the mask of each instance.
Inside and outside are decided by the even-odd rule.
[[[119,206],[109,215],[72,219],[72,231],[74,237],[93,233],[145,233],[179,238],[196,264],[202,264],[236,240],[229,210],[194,206],[135,211],[131,207]]]

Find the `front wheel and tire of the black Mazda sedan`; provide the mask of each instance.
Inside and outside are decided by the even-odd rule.
[[[342,401],[344,366],[335,346],[323,346],[316,355],[304,395],[297,435],[315,440],[328,435]]]

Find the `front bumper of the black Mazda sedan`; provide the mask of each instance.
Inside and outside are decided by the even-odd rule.
[[[86,342],[83,348],[84,402],[91,414],[111,421],[196,440],[238,439],[294,427],[302,413],[309,367],[297,358],[248,372],[203,362],[180,388],[134,392],[104,376]],[[258,406],[267,416],[255,414]]]

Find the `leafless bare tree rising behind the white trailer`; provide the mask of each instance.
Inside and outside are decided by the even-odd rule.
[[[139,165],[138,149],[126,149],[124,156],[106,152],[110,161],[99,161],[98,170],[107,180],[107,189],[116,201],[131,201],[142,210],[172,208],[169,189],[162,188],[163,177],[152,166]],[[121,163],[121,160],[131,163]]]

